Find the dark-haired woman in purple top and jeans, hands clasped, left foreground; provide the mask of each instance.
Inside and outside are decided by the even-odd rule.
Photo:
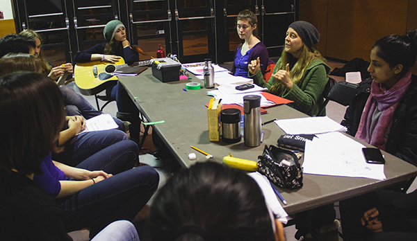
[[[15,79],[19,81],[13,82]],[[154,168],[133,168],[139,152],[136,143],[129,140],[115,143],[92,154],[75,168],[52,161],[51,150],[56,152],[59,149],[54,142],[58,140],[59,130],[65,121],[62,94],[58,87],[47,76],[33,72],[12,73],[2,76],[1,81],[0,90],[7,91],[1,92],[0,103],[8,106],[8,109],[3,108],[4,111],[1,109],[2,119],[6,119],[2,121],[3,129],[18,129],[15,135],[22,144],[10,147],[8,142],[18,141],[11,137],[4,139],[2,136],[0,170],[5,167],[8,170],[16,169],[23,175],[27,174],[26,170],[33,170],[35,175],[31,177],[38,184],[38,188],[55,198],[56,204],[69,220],[67,231],[88,227],[90,238],[93,238],[101,229],[116,220],[133,220],[152,197],[159,181]],[[27,91],[20,93],[22,91],[19,92],[19,89]],[[26,98],[19,98],[25,94]],[[42,101],[43,99],[49,101]],[[27,114],[28,112],[32,115]],[[45,121],[40,118],[42,114],[54,118],[47,118]],[[13,117],[8,118],[9,115]],[[33,129],[39,131],[33,132]],[[53,136],[54,139],[45,144],[39,141],[44,137],[42,135],[49,136],[49,139]],[[3,154],[3,151],[6,152],[3,145],[10,149],[6,154]],[[39,150],[35,155],[25,156],[28,150],[37,147]],[[28,163],[14,165],[13,160],[9,160],[8,152],[17,152],[19,159],[27,159]],[[30,163],[31,161],[35,163]]]

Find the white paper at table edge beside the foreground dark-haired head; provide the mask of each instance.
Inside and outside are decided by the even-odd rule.
[[[265,197],[266,205],[278,217],[277,219],[280,222],[286,224],[288,222],[286,218],[288,214],[279,203],[277,199],[278,197],[275,195],[274,190],[272,190],[270,181],[264,175],[261,175],[261,173],[259,172],[251,172],[248,175],[252,177],[256,181],[256,183],[258,183],[259,187],[262,190],[263,197]]]

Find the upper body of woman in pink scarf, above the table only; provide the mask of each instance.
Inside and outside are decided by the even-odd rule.
[[[342,125],[347,133],[417,166],[417,30],[389,35],[370,51],[371,78],[359,84]],[[368,98],[369,96],[369,98]]]

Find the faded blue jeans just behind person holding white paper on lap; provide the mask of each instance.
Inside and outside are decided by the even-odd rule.
[[[63,93],[67,116],[83,116],[88,120],[89,118],[103,114],[103,112],[98,111],[95,107],[92,107],[90,102],[85,100],[83,96],[76,93],[74,89],[67,87],[66,85],[61,85],[60,91]],[[124,131],[122,120],[117,118],[113,118],[113,120],[115,120],[115,123],[119,126],[119,130]]]

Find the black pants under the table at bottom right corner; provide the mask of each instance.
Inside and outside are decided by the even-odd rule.
[[[417,192],[407,197],[412,195]],[[417,217],[413,217],[417,203],[404,197],[404,193],[378,190],[340,202],[343,240],[417,240]],[[383,233],[373,233],[360,222],[363,213],[375,207],[382,216]]]

